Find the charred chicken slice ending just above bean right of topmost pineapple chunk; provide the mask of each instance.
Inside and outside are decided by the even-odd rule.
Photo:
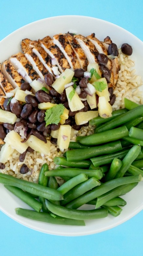
[[[60,48],[63,52],[65,58],[67,59],[70,67],[73,69],[80,68],[80,63],[77,59],[75,52],[73,51],[69,41],[64,34],[58,34],[53,37],[53,42]]]

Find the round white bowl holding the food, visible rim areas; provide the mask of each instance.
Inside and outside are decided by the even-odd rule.
[[[143,74],[143,42],[128,31],[110,22],[86,16],[51,17],[38,20],[16,30],[0,42],[0,62],[2,63],[12,54],[20,51],[21,40],[24,38],[37,40],[47,35],[52,37],[54,34],[68,31],[84,36],[94,32],[100,40],[110,36],[118,47],[122,43],[129,43],[133,47],[132,59],[135,61],[136,72],[139,75]],[[127,205],[123,207],[123,211],[116,218],[109,215],[103,219],[85,221],[86,226],[64,226],[33,221],[16,215],[15,208],[28,209],[29,207],[0,184],[0,210],[10,218],[37,231],[60,236],[82,236],[102,232],[132,218],[143,209],[142,194],[143,184],[140,182],[133,191],[123,196]]]

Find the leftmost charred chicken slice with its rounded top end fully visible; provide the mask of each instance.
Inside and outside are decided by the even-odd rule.
[[[20,87],[25,82],[9,61],[3,62],[1,69],[13,88]]]

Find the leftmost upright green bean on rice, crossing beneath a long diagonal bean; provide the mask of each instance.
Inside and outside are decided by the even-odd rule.
[[[43,185],[45,187],[47,186],[48,177],[45,177],[44,173],[47,170],[48,170],[48,165],[44,164],[40,169],[39,179],[38,179],[38,184]],[[42,203],[43,212],[47,213],[48,210],[47,210],[47,207],[45,205],[45,198],[43,196],[39,196],[39,201]]]

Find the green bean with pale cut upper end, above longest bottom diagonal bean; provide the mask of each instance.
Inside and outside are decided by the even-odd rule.
[[[61,205],[67,204],[85,192],[99,186],[100,184],[101,183],[95,177],[80,183],[79,185],[69,190],[66,194],[64,194],[64,199],[61,201]]]

